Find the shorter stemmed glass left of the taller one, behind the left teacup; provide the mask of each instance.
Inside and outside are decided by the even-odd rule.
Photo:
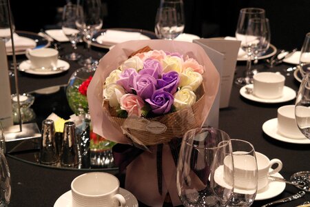
[[[68,37],[73,49],[73,52],[65,55],[65,58],[73,61],[81,58],[81,54],[76,52],[76,43],[80,39],[80,31],[76,27],[76,20],[79,17],[77,15],[78,9],[79,7],[71,2],[63,7],[62,30],[63,34]]]

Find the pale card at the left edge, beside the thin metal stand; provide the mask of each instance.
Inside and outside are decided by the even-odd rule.
[[[0,121],[3,128],[13,125],[10,80],[6,44],[0,41]]]

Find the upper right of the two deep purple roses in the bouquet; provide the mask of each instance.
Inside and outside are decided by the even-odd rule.
[[[178,83],[180,83],[180,76],[178,72],[172,70],[164,73],[162,79],[157,80],[157,89],[174,94],[178,89]]]

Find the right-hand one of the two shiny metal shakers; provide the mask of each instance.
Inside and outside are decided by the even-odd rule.
[[[76,143],[75,124],[65,122],[63,144],[61,146],[61,166],[76,166],[80,163],[79,146]]]

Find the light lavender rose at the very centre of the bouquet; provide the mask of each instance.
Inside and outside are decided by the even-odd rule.
[[[156,90],[157,81],[154,77],[148,74],[138,74],[133,78],[134,86],[132,89],[136,90],[136,94],[142,99],[149,99]]]

